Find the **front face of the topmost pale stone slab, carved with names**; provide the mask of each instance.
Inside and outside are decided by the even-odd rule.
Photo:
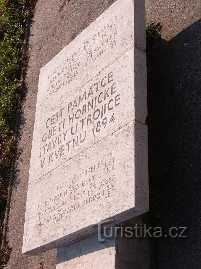
[[[118,0],[40,70],[36,120],[134,47],[132,0]]]

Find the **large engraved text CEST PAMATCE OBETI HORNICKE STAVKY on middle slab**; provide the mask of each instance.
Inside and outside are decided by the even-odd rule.
[[[67,99],[65,103],[66,106],[50,115],[43,126],[45,131],[39,138],[42,146],[38,155],[41,168],[71,153],[89,139],[94,143],[95,133],[114,123],[120,94],[113,72],[96,81],[74,100]]]

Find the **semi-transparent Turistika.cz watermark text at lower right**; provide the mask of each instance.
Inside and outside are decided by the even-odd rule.
[[[98,226],[98,240],[100,242],[105,241],[107,238],[112,237],[127,237],[127,238],[186,238],[187,227],[170,227],[168,232],[164,233],[161,227],[150,227],[146,223],[135,224],[135,226],[125,226],[119,224],[115,227],[108,227],[106,222],[100,222]]]

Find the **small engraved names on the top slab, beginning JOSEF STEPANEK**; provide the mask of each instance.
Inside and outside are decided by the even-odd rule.
[[[117,43],[117,20],[115,16],[103,25],[90,38],[90,42],[88,39],[83,41],[82,46],[47,75],[47,99],[67,87],[92,62],[99,60],[103,54],[110,53]]]

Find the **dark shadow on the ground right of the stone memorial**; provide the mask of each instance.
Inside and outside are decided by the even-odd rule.
[[[201,20],[147,53],[150,216],[157,269],[201,265]],[[174,234],[174,233],[173,233]]]

